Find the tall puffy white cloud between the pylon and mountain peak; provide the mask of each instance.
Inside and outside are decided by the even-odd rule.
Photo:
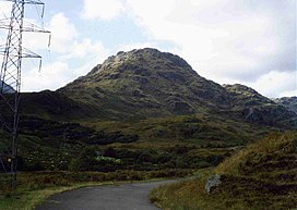
[[[81,38],[75,25],[63,13],[55,14],[48,24],[48,28],[51,32],[50,50],[52,53],[46,55],[54,59],[44,58],[45,65],[40,73],[36,67],[37,64],[33,67],[32,63],[24,61],[23,91],[60,88],[88,73],[108,54],[108,50],[100,41]],[[43,34],[27,35],[24,37],[24,42],[33,50],[40,50],[47,46],[45,38],[47,36]]]

